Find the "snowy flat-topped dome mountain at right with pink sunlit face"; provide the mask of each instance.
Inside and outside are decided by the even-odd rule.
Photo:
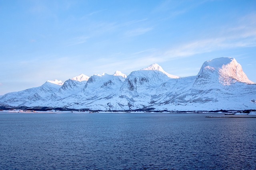
[[[171,110],[256,108],[251,102],[256,96],[256,84],[252,83],[235,59],[218,58],[206,61],[197,76],[162,84],[154,104]]]

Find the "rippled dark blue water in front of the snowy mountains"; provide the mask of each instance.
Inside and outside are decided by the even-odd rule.
[[[256,119],[0,113],[0,169],[256,169]]]

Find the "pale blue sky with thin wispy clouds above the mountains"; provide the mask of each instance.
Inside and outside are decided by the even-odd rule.
[[[153,63],[233,57],[256,82],[256,0],[0,0],[0,95]]]

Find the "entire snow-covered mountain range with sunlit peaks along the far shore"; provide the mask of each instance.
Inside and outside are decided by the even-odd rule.
[[[0,106],[47,106],[92,110],[256,109],[256,84],[234,58],[204,62],[198,75],[178,77],[158,64],[131,72],[80,74],[40,87],[5,94]]]

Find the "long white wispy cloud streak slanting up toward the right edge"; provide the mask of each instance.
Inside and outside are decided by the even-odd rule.
[[[243,17],[244,21],[235,27],[222,30],[221,35],[214,38],[198,39],[190,43],[171,47],[164,53],[166,59],[175,57],[188,57],[200,53],[208,53],[221,49],[232,49],[236,47],[256,47],[256,22]],[[255,15],[256,18],[256,15]]]

